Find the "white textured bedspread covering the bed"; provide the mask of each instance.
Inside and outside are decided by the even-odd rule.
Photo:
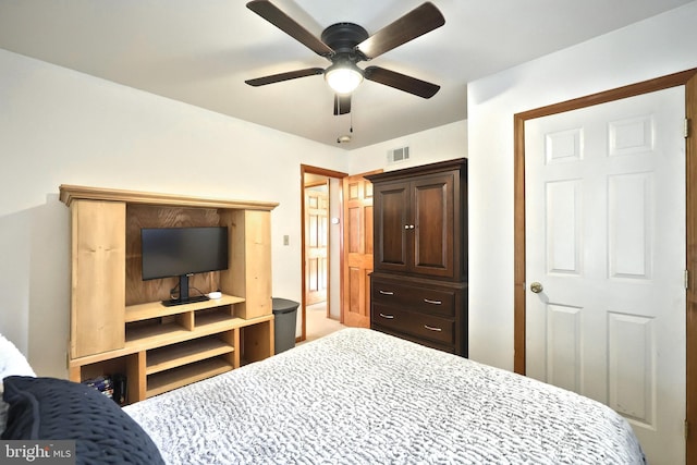
[[[640,464],[609,407],[365,329],[124,408],[171,464]]]

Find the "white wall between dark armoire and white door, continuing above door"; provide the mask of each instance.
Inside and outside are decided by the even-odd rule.
[[[697,2],[468,85],[469,355],[513,368],[513,115],[697,66]]]

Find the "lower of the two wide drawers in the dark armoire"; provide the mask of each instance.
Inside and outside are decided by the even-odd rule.
[[[454,320],[408,311],[399,307],[382,305],[375,301],[371,307],[370,320],[374,325],[444,344],[454,344],[455,342]]]

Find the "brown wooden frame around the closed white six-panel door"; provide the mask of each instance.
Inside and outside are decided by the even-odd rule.
[[[686,188],[686,257],[688,285],[686,289],[686,399],[685,448],[686,463],[697,463],[697,69],[644,81],[624,87],[553,103],[516,113],[514,127],[514,371],[525,375],[525,122],[595,105],[607,103],[641,94],[685,86],[685,188]],[[690,356],[694,354],[694,356]]]

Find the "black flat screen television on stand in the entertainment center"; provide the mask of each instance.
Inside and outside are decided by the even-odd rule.
[[[179,278],[179,297],[166,306],[207,301],[188,295],[188,277],[228,269],[228,228],[143,228],[143,280]]]

